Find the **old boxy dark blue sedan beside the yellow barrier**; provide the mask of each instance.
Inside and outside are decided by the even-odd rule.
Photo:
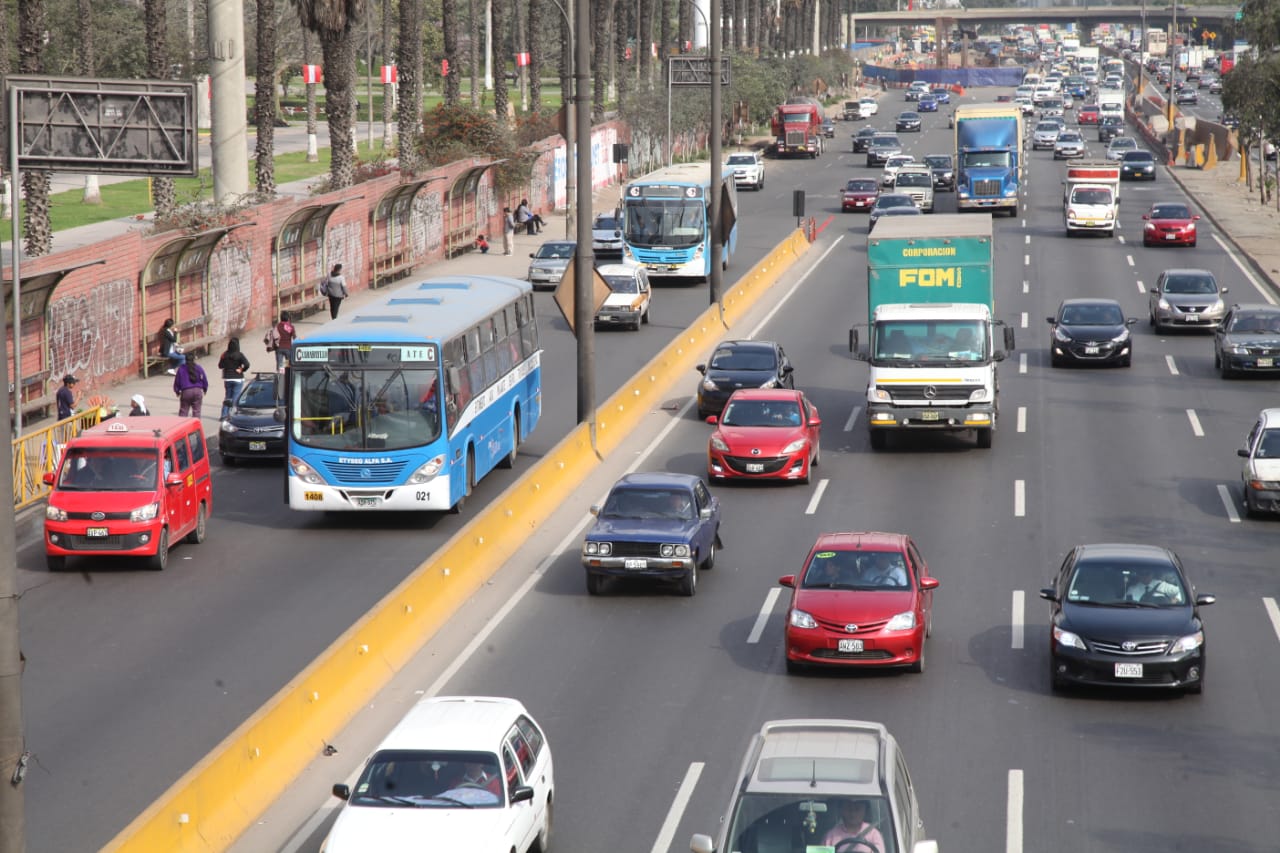
[[[613,484],[582,542],[586,592],[599,596],[608,578],[675,580],[682,596],[698,592],[698,570],[716,565],[719,498],[692,474],[627,474]]]

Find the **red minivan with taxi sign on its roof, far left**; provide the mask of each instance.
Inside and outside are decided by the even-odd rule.
[[[169,546],[205,540],[214,508],[205,432],[196,418],[114,418],[63,448],[45,508],[50,571],[72,556],[169,562]]]

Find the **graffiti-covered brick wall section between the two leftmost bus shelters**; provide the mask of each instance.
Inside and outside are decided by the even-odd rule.
[[[49,304],[49,350],[52,375],[73,373],[81,379],[128,368],[138,353],[129,341],[137,314],[137,288],[118,278],[79,296]]]

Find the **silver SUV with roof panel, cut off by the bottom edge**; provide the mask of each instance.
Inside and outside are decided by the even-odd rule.
[[[765,722],[733,790],[719,845],[694,835],[694,853],[938,853],[938,843],[924,836],[897,740],[878,722]]]

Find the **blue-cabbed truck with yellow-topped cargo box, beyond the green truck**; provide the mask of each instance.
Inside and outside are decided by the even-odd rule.
[[[956,108],[956,206],[1018,215],[1023,113],[1018,104]]]

